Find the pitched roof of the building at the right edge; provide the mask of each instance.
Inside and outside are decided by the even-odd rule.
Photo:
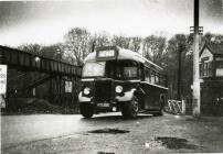
[[[204,48],[209,48],[209,51],[213,54],[213,55],[223,55],[223,44],[205,44],[202,48],[201,52],[199,54],[199,56],[201,56],[201,54],[203,53]]]

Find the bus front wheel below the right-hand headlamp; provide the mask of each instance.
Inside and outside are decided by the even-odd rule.
[[[136,119],[138,110],[139,110],[138,99],[134,97],[131,101],[125,102],[125,105],[121,108],[121,113],[124,118]]]

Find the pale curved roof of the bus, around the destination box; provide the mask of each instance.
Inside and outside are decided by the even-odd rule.
[[[142,57],[140,54],[136,53],[136,52],[132,52],[130,50],[125,50],[125,48],[121,48],[119,46],[104,46],[104,47],[98,47],[96,50],[97,51],[100,51],[100,50],[107,50],[107,48],[117,48],[118,51],[118,55],[116,57],[116,59],[131,59],[131,61],[136,61],[136,62],[140,62],[142,64],[145,64],[146,66],[153,66],[158,69],[161,69],[162,68],[160,66],[158,66],[157,64],[148,61],[147,58]],[[87,55],[87,57],[84,59],[84,63],[87,63],[87,62],[96,62],[97,58],[96,58],[96,52],[93,52],[91,53],[89,55]]]

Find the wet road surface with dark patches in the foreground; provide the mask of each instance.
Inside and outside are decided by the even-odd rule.
[[[2,153],[179,153],[223,152],[223,118],[120,113],[93,119],[79,114],[1,117]]]

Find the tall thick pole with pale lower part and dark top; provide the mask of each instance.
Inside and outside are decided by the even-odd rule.
[[[200,117],[200,75],[199,75],[199,0],[194,0],[193,33],[193,117]]]

